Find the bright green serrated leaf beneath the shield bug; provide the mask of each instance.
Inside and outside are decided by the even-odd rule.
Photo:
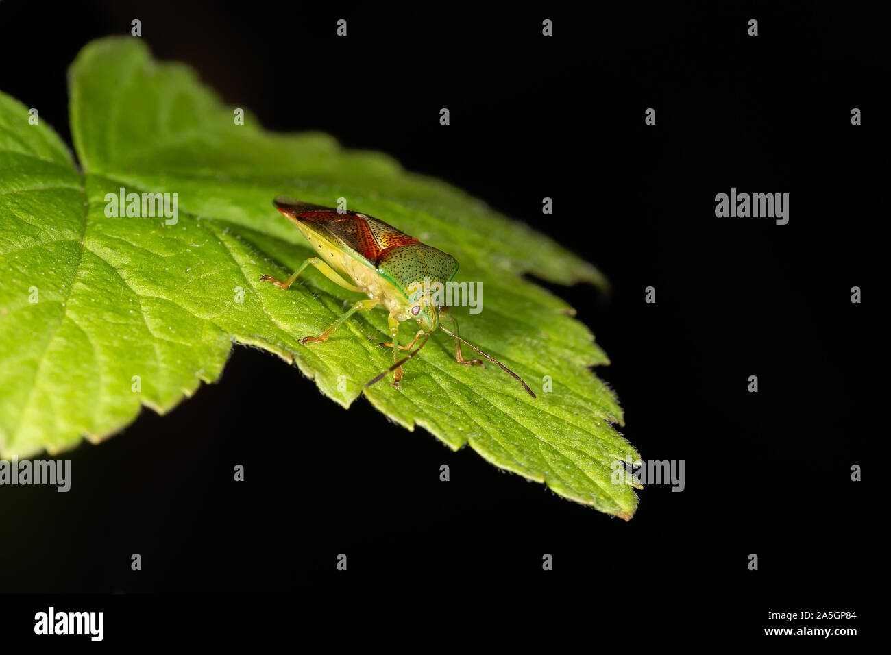
[[[637,496],[612,483],[610,464],[640,458],[611,424],[622,423],[615,395],[588,368],[607,357],[571,307],[522,277],[603,285],[593,266],[380,153],[343,151],[325,135],[269,133],[249,113],[236,125],[233,108],[191,70],[152,61],[141,39],[87,45],[69,84],[80,172],[49,127],[30,125],[27,108],[0,94],[5,457],[56,453],[84,435],[99,441],[141,405],[168,411],[217,379],[233,341],[296,362],[348,407],[392,361],[378,345],[386,313],[359,313],[331,340],[301,346],[361,295],[313,268],[288,291],[259,281],[313,254],[274,196],[327,206],[343,197],[453,254],[457,279],[485,291],[482,313],[456,310],[462,335],[536,390],[544,376],[553,384],[533,400],[495,366],[456,365],[440,333],[406,365],[401,390],[383,382],[364,390],[372,405],[559,495],[625,519],[634,513]],[[121,187],[176,192],[176,225],[107,217],[106,194]]]

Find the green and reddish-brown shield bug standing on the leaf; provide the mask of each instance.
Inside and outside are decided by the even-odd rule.
[[[463,343],[519,380],[529,395],[535,397],[535,393],[517,373],[463,340],[458,335],[458,324],[449,313],[449,307],[436,304],[429,290],[434,282],[445,284],[454,277],[458,271],[458,262],[454,257],[366,214],[355,211],[339,213],[337,209],[295,201],[287,196],[277,196],[273,203],[297,225],[318,257],[308,258],[285,282],[276,280],[272,275],[263,275],[260,280],[288,289],[303,269],[315,266],[325,277],[344,289],[361,291],[368,296],[367,300],[356,302],[319,336],[304,337],[300,343],[326,341],[349,316],[382,305],[389,312],[390,333],[390,343],[382,345],[393,348],[393,365],[367,382],[366,387],[393,371],[393,385],[398,388],[402,379],[402,364],[417,355],[427,343],[429,335],[438,328],[454,338],[455,361],[458,364],[485,365],[478,359],[464,359],[461,352]],[[419,329],[411,343],[400,346],[399,325],[409,320],[416,321]],[[447,329],[443,322],[449,323],[453,329]],[[412,350],[418,340],[421,340],[421,345]],[[400,359],[400,350],[412,352]]]

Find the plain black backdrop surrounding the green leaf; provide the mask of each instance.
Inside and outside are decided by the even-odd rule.
[[[118,608],[110,635],[141,626],[128,602],[251,617],[374,594],[366,609],[394,618],[421,606],[472,623],[512,588],[519,607],[547,620],[576,610],[584,630],[630,643],[662,628],[682,641],[763,635],[781,626],[768,610],[861,617],[868,458],[882,437],[869,373],[887,220],[883,28],[812,3],[712,5],[0,4],[0,88],[68,143],[69,62],[139,18],[156,57],[188,62],[265,127],[386,151],[601,267],[609,298],[550,288],[609,354],[598,374],[617,389],[626,438],[645,460],[686,462],[683,493],[645,488],[625,523],[401,430],[364,399],[344,411],[296,368],[240,347],[168,416],[146,410],[63,454],[68,494],[0,490],[0,591],[293,594],[61,602]],[[731,186],[789,192],[789,225],[716,218],[715,193]],[[865,481],[851,481],[854,463]],[[26,632],[51,600],[13,603]]]

